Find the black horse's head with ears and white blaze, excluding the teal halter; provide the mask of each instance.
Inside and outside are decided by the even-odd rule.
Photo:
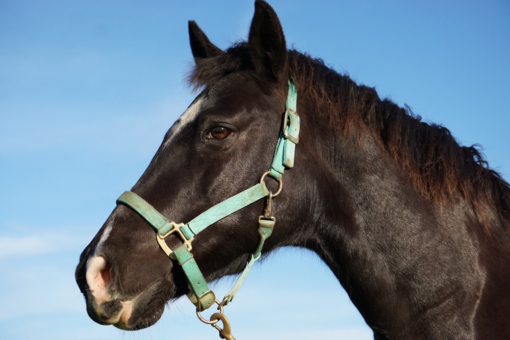
[[[195,60],[190,82],[201,92],[168,130],[130,192],[176,223],[258,183],[271,194],[282,189],[279,175],[261,176],[271,165],[282,121],[287,122],[282,117],[291,86],[283,31],[264,2],[256,3],[246,43],[222,51],[193,21],[189,37]],[[296,175],[285,179],[275,207],[279,227],[264,251],[292,242],[282,236],[284,225],[296,218],[286,213],[297,194]],[[244,268],[260,242],[257,221],[263,209],[264,200],[258,199],[193,237],[193,261],[207,281]],[[83,251],[75,276],[94,321],[122,329],[147,327],[169,299],[190,293],[183,268],[162,251],[156,235],[124,202]],[[161,244],[175,249],[182,242],[170,234]]]

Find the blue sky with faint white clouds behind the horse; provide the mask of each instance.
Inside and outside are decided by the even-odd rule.
[[[506,0],[270,3],[289,47],[479,143],[510,179]],[[226,48],[252,15],[252,1],[0,0],[0,338],[217,338],[186,300],[143,331],[97,325],[73,272],[193,99],[187,20]],[[257,266],[225,313],[239,339],[371,338],[304,250]]]

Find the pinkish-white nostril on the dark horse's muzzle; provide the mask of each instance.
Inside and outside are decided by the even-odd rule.
[[[93,256],[87,261],[85,274],[90,293],[98,303],[110,300],[108,287],[110,285],[110,266],[104,256]]]

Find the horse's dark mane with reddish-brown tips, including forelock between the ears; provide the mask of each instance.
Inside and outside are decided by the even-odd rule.
[[[195,62],[187,76],[194,90],[232,72],[258,76],[246,42],[232,45],[223,55]],[[477,145],[459,145],[447,128],[423,122],[409,107],[380,99],[374,88],[356,84],[321,59],[289,50],[288,66],[298,93],[311,98],[316,112],[327,115],[324,118],[330,125],[344,134],[351,127],[371,133],[428,199],[443,206],[463,198],[483,221],[489,207],[497,210],[503,224],[510,221],[510,185],[489,168]]]

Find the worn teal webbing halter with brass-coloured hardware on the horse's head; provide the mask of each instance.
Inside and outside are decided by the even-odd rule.
[[[290,80],[286,110],[282,121],[282,129],[280,131],[278,142],[276,143],[273,161],[269,171],[265,172],[261,176],[258,184],[212,206],[188,223],[169,222],[154,207],[152,207],[152,205],[131,191],[124,192],[117,199],[117,204],[130,207],[156,230],[156,239],[160,247],[167,256],[176,260],[177,263],[182,266],[184,273],[188,278],[188,282],[192,290],[192,293],[190,293],[188,297],[196,306],[198,318],[202,322],[210,324],[219,330],[221,338],[234,339],[230,333],[230,324],[223,315],[223,306],[232,301],[253,266],[253,263],[260,258],[264,242],[269,236],[271,236],[275,223],[275,218],[271,216],[272,198],[282,191],[282,175],[284,170],[290,169],[294,166],[294,151],[296,144],[299,142],[300,123],[299,115],[296,113],[296,106],[297,91],[294,82]],[[267,176],[278,181],[278,189],[274,194],[266,187],[264,179]],[[232,287],[232,290],[225,295],[221,302],[219,302],[216,300],[213,291],[211,291],[207,286],[206,280],[203,278],[203,275],[193,258],[193,254],[191,253],[193,238],[196,234],[206,229],[208,226],[264,197],[267,197],[267,202],[264,209],[264,215],[259,217],[259,245],[251,255],[251,258],[247,261],[245,269]],[[183,244],[174,250],[170,249],[165,242],[165,239],[171,234],[176,234],[176,236],[179,236],[183,241]],[[220,312],[214,313],[209,321],[203,319],[200,312],[211,307],[214,303],[218,304],[218,310]],[[218,321],[222,321],[223,329],[217,325]]]

